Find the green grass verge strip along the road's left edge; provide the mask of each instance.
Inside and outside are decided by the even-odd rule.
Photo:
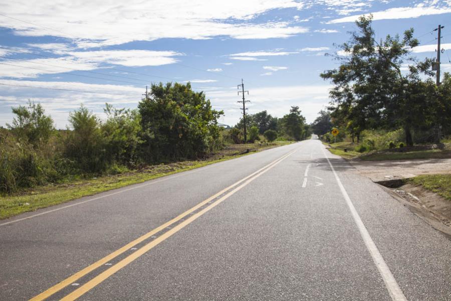
[[[64,184],[51,184],[23,190],[13,195],[0,195],[0,219],[12,217],[24,212],[35,211],[53,205],[62,204],[81,197],[94,195],[100,192],[121,188],[131,184],[142,183],[155,178],[192,170],[225,160],[238,158],[237,155],[250,149],[250,152],[264,150],[285,144],[291,141],[275,141],[268,144],[234,144],[212,155],[207,160],[183,161],[169,164],[149,166],[142,170],[127,172],[115,176],[103,176],[92,179],[67,181]],[[250,153],[250,154],[251,154]]]

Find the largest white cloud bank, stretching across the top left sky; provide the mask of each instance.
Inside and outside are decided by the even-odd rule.
[[[31,14],[25,9],[30,7],[36,13]],[[11,28],[23,36],[51,35],[73,39],[81,47],[161,38],[286,38],[308,32],[308,29],[289,22],[256,21],[256,17],[263,13],[287,8],[302,9],[303,4],[296,0],[130,0],[126,4],[88,0],[16,0],[3,6],[2,14],[42,27],[9,18],[1,18],[0,27]]]

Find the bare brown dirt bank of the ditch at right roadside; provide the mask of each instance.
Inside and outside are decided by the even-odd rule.
[[[384,187],[395,199],[408,208],[435,229],[451,239],[451,202],[412,184],[400,187]]]

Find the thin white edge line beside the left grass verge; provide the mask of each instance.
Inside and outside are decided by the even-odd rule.
[[[287,144],[287,145],[293,145],[293,144],[295,144],[295,143]],[[282,146],[285,146],[285,145],[282,145]],[[275,147],[275,148],[271,148],[271,149],[276,149],[276,148],[279,148],[279,147]],[[266,149],[266,150],[270,150],[270,149]],[[256,153],[256,154],[259,154],[259,153]],[[209,166],[203,166],[203,167],[200,167],[200,168],[196,168],[196,169],[194,169],[192,171],[180,172],[179,175],[165,176],[163,179],[160,179],[160,180],[155,180],[155,181],[147,180],[145,182],[148,182],[148,181],[152,181],[152,182],[149,182],[149,183],[145,183],[144,182],[144,184],[141,184],[141,185],[138,185],[138,186],[134,186],[134,187],[131,187],[131,188],[128,188],[128,189],[123,189],[121,191],[110,193],[110,194],[107,194],[107,195],[104,195],[104,196],[96,197],[96,198],[89,199],[89,200],[86,200],[86,201],[78,202],[78,203],[75,203],[75,204],[63,206],[63,207],[60,207],[60,208],[56,208],[56,209],[48,210],[48,211],[41,212],[41,213],[38,213],[38,214],[30,215],[30,216],[27,216],[27,217],[24,217],[24,218],[20,218],[20,219],[17,219],[17,220],[13,220],[13,221],[9,221],[9,222],[6,222],[6,223],[2,223],[2,224],[0,224],[0,226],[6,226],[6,225],[9,225],[9,224],[13,224],[13,223],[17,223],[17,222],[24,221],[24,220],[27,220],[27,219],[31,219],[31,218],[34,218],[34,217],[37,217],[37,216],[41,216],[41,215],[44,215],[44,214],[47,214],[47,213],[52,213],[52,212],[55,212],[55,211],[59,211],[61,209],[70,208],[70,207],[73,207],[73,206],[81,205],[81,204],[88,203],[88,202],[91,202],[91,201],[95,201],[95,200],[98,200],[98,199],[103,199],[103,198],[106,198],[106,197],[114,196],[116,194],[120,194],[120,193],[123,193],[123,192],[126,192],[126,191],[130,191],[130,190],[133,190],[133,189],[137,189],[137,188],[153,185],[153,184],[156,184],[156,183],[160,183],[160,182],[163,182],[163,181],[175,179],[175,178],[178,178],[178,177],[186,176],[186,175],[189,175],[189,174],[201,171],[201,170],[206,170],[206,169],[218,166],[218,165],[225,164],[225,163],[227,163],[229,161],[236,160],[236,159],[241,159],[241,158],[244,158],[244,157],[234,158],[234,159],[231,159],[231,160],[226,160],[226,161],[218,162],[218,163],[213,163],[213,164],[211,164]],[[117,189],[121,189],[121,188],[117,188]],[[101,193],[101,192],[99,192],[99,193]],[[75,201],[75,200],[72,200],[72,201]],[[42,208],[42,209],[44,209],[44,208]]]

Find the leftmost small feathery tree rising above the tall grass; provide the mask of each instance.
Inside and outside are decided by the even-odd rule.
[[[34,146],[46,143],[55,130],[52,117],[45,114],[40,103],[35,104],[29,100],[28,107],[13,107],[13,113],[16,117],[13,118],[13,124],[7,124],[8,128]]]

